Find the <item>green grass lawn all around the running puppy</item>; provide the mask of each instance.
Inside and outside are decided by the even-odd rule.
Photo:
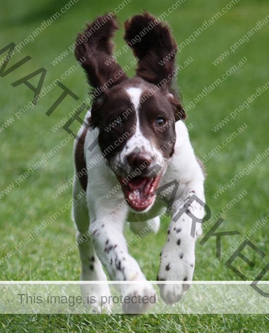
[[[34,30],[40,27],[43,20],[60,11],[67,1],[46,1],[37,5],[32,0],[8,1],[0,10],[1,42],[0,49],[11,41],[19,44]],[[148,9],[159,16],[168,12],[175,1],[135,0],[120,10],[119,22],[141,11]],[[180,44],[189,35],[202,26],[229,1],[186,0],[178,9],[167,17],[174,36]],[[44,67],[47,74],[43,86],[48,86],[60,78],[72,65],[76,65],[70,53],[58,65],[51,62],[72,43],[78,30],[84,27],[85,21],[91,21],[96,15],[112,11],[119,5],[118,1],[85,1],[75,3],[64,15],[27,44],[20,54],[11,58],[8,67],[27,55],[31,60],[9,75],[0,77],[0,126],[18,112],[33,97],[24,84],[13,88],[11,83]],[[187,112],[186,124],[192,124],[189,135],[198,157],[202,158],[233,132],[238,132],[242,124],[247,128],[221,149],[205,164],[208,174],[205,183],[206,200],[212,214],[221,211],[238,194],[245,190],[247,195],[224,213],[224,222],[218,231],[238,230],[241,235],[222,237],[222,250],[228,249],[234,242],[247,233],[258,219],[269,214],[269,160],[264,159],[249,175],[242,177],[235,186],[217,199],[212,195],[229,182],[247,166],[258,153],[268,148],[268,94],[263,93],[249,108],[241,111],[234,120],[230,120],[222,129],[213,132],[211,129],[223,118],[252,95],[256,88],[269,81],[268,67],[268,31],[269,24],[264,26],[242,44],[218,66],[212,62],[226,49],[229,49],[245,33],[269,14],[269,4],[264,1],[239,1],[227,14],[219,18],[212,26],[188,44],[178,54],[178,64],[192,57],[193,62],[178,74],[178,85],[185,105],[189,104],[205,86],[221,78],[229,68],[238,64],[243,57],[247,62],[235,73],[215,88],[208,96]],[[122,29],[117,32],[116,51],[124,45]],[[0,55],[0,58],[4,54]],[[13,59],[14,58],[14,59]],[[119,58],[122,67],[129,65],[133,59],[131,52]],[[127,74],[133,75],[133,69]],[[35,78],[36,79],[36,78]],[[34,81],[34,79],[33,79]],[[36,82],[36,81],[35,81]],[[71,112],[83,100],[86,100],[88,87],[81,68],[76,69],[63,82],[72,92],[80,97],[76,102],[67,97],[50,116],[46,111],[61,94],[56,87],[37,102],[37,105],[23,114],[11,126],[0,133],[0,192],[12,182],[15,183],[22,173],[27,171],[42,154],[50,151],[63,140],[67,133],[62,129],[53,133],[50,129],[65,115]],[[33,83],[33,85],[36,83]],[[78,127],[74,126],[74,128]],[[0,258],[23,241],[34,229],[40,226],[43,219],[48,219],[60,210],[71,199],[71,186],[57,199],[53,194],[73,175],[72,143],[66,144],[49,161],[44,163],[34,174],[26,178],[20,186],[0,199]],[[137,259],[148,279],[155,280],[158,270],[159,252],[166,238],[169,220],[162,222],[157,235],[147,235],[141,242],[130,248],[130,253]],[[235,266],[248,277],[255,278],[268,263],[269,225],[255,232],[250,241],[258,246],[266,257],[262,259],[250,248],[244,254],[256,266],[252,269],[241,260]],[[209,230],[207,228],[204,234]],[[134,235],[125,231],[127,240]],[[75,230],[70,219],[70,209],[62,214],[49,228],[37,235],[33,242],[0,266],[1,280],[78,280],[80,262],[78,250],[71,253],[56,266],[51,264],[55,257],[75,241]],[[150,244],[150,246],[149,246]],[[240,280],[239,277],[224,265],[212,261],[215,258],[215,239],[210,238],[202,247],[196,244],[196,267],[194,280]],[[269,273],[264,277],[268,280]],[[0,332],[268,332],[269,320],[264,315],[2,315]]]

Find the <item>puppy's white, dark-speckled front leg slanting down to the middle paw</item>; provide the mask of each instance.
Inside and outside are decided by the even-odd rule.
[[[123,210],[123,209],[122,209]],[[126,240],[123,236],[123,226],[126,213],[110,214],[109,218],[94,220],[90,223],[91,239],[96,254],[106,267],[112,280],[117,281],[146,281],[137,261],[128,254]],[[102,224],[100,225],[100,222]],[[122,303],[122,310],[125,313],[144,312],[156,300],[152,285],[119,284],[118,289],[122,300],[129,297],[130,302]],[[140,298],[139,298],[140,295]],[[151,303],[143,303],[142,298],[151,297]],[[153,297],[153,298],[152,298]]]

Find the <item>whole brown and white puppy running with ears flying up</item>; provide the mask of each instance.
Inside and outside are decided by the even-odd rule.
[[[128,254],[123,227],[128,221],[136,233],[157,232],[159,216],[164,215],[174,188],[166,184],[174,180],[179,183],[169,210],[172,217],[193,193],[205,201],[204,175],[182,122],[185,112],[172,86],[177,73],[177,44],[167,24],[147,12],[128,19],[124,26],[124,39],[139,59],[132,78],[110,59],[110,39],[118,28],[110,14],[88,25],[76,44],[76,59],[81,61],[94,89],[86,126],[82,126],[78,133],[81,139],[74,145],[73,197],[82,190],[86,192],[73,206],[77,239],[84,239],[78,242],[84,281],[106,280],[102,264],[112,280],[146,281],[138,263]],[[94,146],[92,143],[97,141]],[[153,195],[162,186],[163,200]],[[204,216],[203,207],[196,201],[189,209],[199,218]],[[197,224],[193,238],[191,221],[186,214],[177,222],[171,221],[161,251],[161,263],[167,262],[160,265],[157,280],[179,281],[160,285],[160,295],[167,303],[181,299],[186,285],[180,281],[192,279],[194,243],[201,234],[201,225]],[[155,294],[147,283],[119,284],[119,288],[123,297]],[[94,296],[93,306],[99,309],[101,297],[110,295],[106,284],[84,284],[81,291],[85,302],[88,295]],[[122,304],[122,309],[140,313],[149,305],[131,302]]]

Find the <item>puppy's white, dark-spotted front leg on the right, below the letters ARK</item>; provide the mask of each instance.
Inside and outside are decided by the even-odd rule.
[[[191,195],[192,193],[190,193]],[[204,216],[204,208],[196,201],[193,201],[176,222],[173,219],[184,206],[185,200],[179,208],[172,213],[172,220],[167,230],[165,245],[160,253],[160,267],[157,275],[158,281],[191,281],[195,264],[195,240],[201,235],[201,223],[196,223],[194,237],[191,235],[192,218],[188,212],[199,219]],[[189,284],[165,283],[158,284],[161,298],[168,304],[181,300]]]

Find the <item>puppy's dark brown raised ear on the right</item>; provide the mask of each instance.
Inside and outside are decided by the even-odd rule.
[[[185,111],[173,89],[177,43],[169,31],[169,26],[144,12],[127,19],[124,27],[123,38],[139,59],[137,76],[161,87],[174,107],[176,120],[185,119]]]

